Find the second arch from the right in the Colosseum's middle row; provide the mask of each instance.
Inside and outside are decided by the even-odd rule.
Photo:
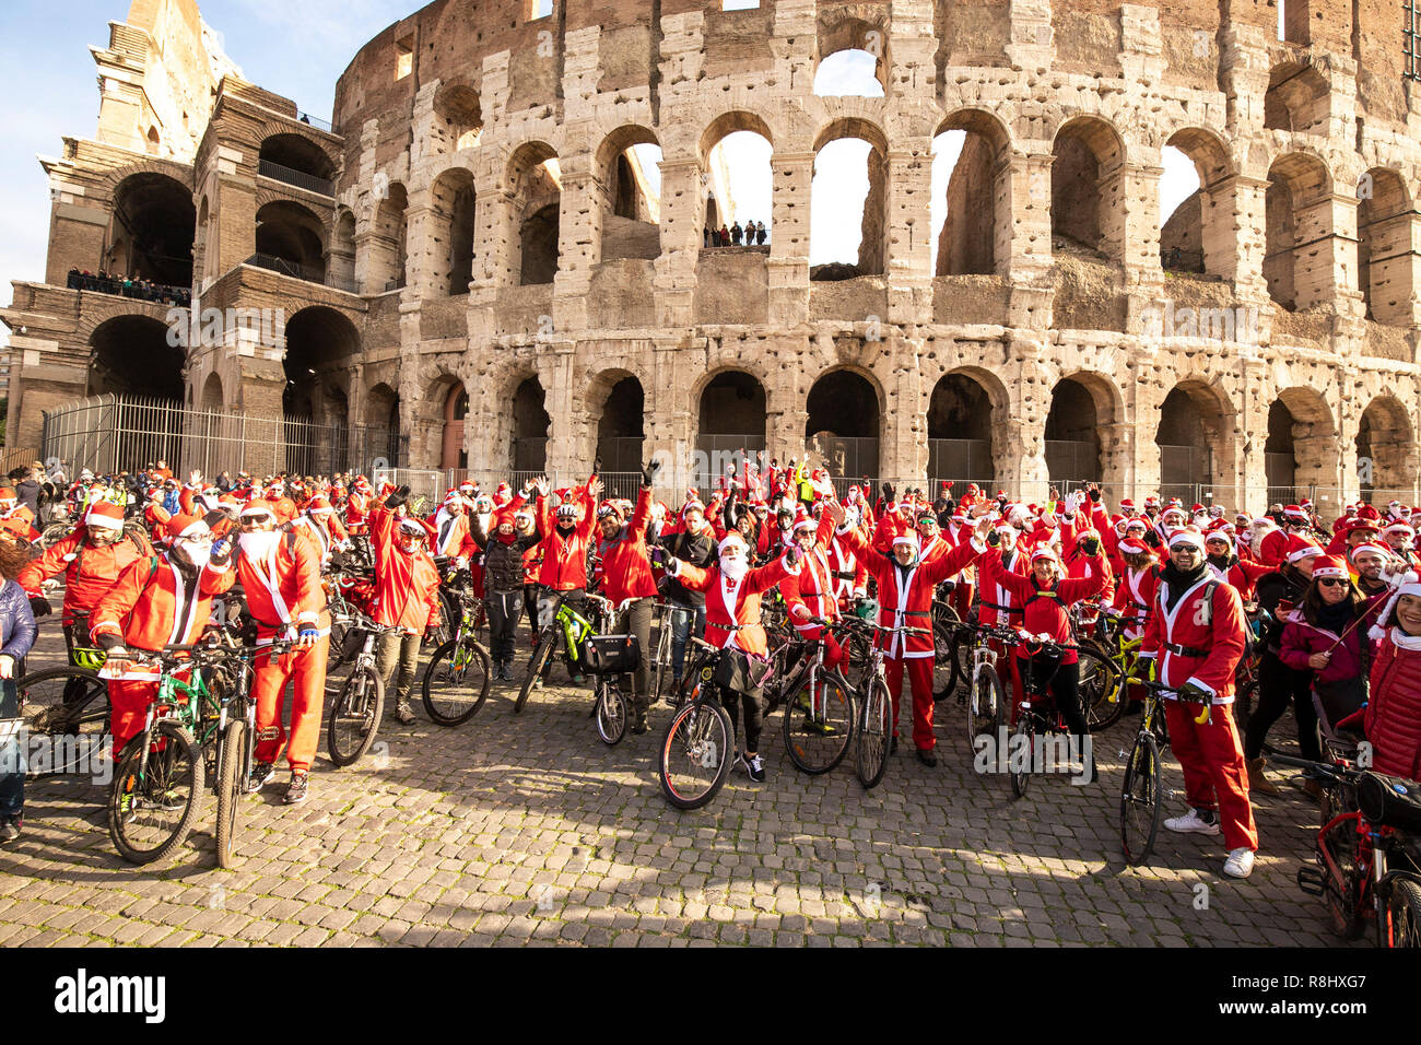
[[[1333,227],[1333,176],[1316,155],[1289,152],[1268,169],[1263,279],[1269,296],[1293,311],[1331,301],[1331,252],[1319,242],[1336,235]]]

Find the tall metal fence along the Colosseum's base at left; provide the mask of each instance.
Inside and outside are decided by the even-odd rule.
[[[189,409],[176,401],[95,395],[44,412],[41,456],[72,475],[134,472],[166,461],[173,473],[199,469],[269,475],[369,472],[405,458],[408,439],[364,424],[317,424],[310,418],[261,418]]]

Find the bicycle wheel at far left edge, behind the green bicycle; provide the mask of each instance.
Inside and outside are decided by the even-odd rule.
[[[108,732],[108,684],[88,668],[45,668],[16,682],[20,715],[31,734],[64,738],[47,745],[50,758],[30,762],[27,776],[75,773],[94,765]]]

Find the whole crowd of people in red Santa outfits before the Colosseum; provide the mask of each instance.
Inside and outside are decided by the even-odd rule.
[[[213,597],[240,589],[259,643],[294,651],[257,661],[254,697],[261,739],[253,786],[284,758],[286,802],[310,792],[321,722],[331,616],[323,576],[333,556],[368,542],[374,584],[362,607],[389,628],[378,671],[395,700],[391,715],[415,719],[409,694],[425,637],[441,624],[436,557],[472,577],[487,614],[492,677],[514,681],[517,633],[533,634],[560,599],[598,591],[620,607],[618,634],[651,650],[654,611],[674,628],[674,690],[691,636],[747,660],[763,658],[762,599],[783,597],[793,627],[824,644],[824,663],[845,651],[833,624],[874,599],[892,697],[892,746],[904,678],[915,758],[936,766],[931,637],[934,600],[951,582],[952,606],[979,624],[1025,628],[1060,647],[1073,640],[1073,610],[1113,614],[1167,690],[1172,751],[1187,809],[1165,820],[1175,832],[1219,835],[1223,870],[1245,877],[1259,847],[1258,793],[1277,793],[1266,775],[1265,741],[1292,707],[1304,758],[1322,759],[1314,709],[1336,727],[1364,709],[1378,772],[1421,776],[1421,508],[1347,506],[1324,525],[1313,505],[1260,516],[1221,506],[1145,498],[1108,505],[1098,486],[1044,503],[995,496],[969,485],[953,498],[855,483],[840,498],[823,468],[746,461],[715,489],[657,498],[657,471],[642,471],[635,500],[608,498],[595,462],[585,481],[554,488],[546,478],[493,491],[465,482],[438,505],[421,506],[408,486],[362,475],[252,476],[199,472],[179,481],[165,462],[124,476],[88,472],[67,491],[72,533],[34,554],[16,522],[0,518],[0,701],[13,715],[17,663],[34,641],[34,616],[50,611],[45,583],[63,577],[60,624],[68,648],[107,651],[114,749],[141,729],[158,690],[144,653],[190,643],[209,624]],[[0,513],[21,512],[0,491]],[[142,526],[125,520],[141,519]],[[28,600],[18,597],[27,593]],[[904,633],[928,626],[926,634]],[[1233,718],[1235,675],[1256,650],[1259,695],[1246,722]],[[1005,651],[1003,651],[1005,653]],[[1012,692],[1033,670],[1033,645],[1006,657]],[[1087,724],[1076,654],[1057,654],[1050,692],[1070,734]],[[574,677],[574,684],[581,678]],[[290,685],[290,727],[283,700]],[[1144,688],[1131,685],[1130,712]],[[652,692],[645,658],[631,678],[630,729],[648,729]],[[1199,712],[1201,707],[1209,715]],[[763,781],[763,702],[753,685],[728,694],[742,722],[739,768]],[[0,715],[4,717],[4,715]],[[1088,751],[1090,745],[1081,745]],[[1083,766],[1096,779],[1094,759]],[[23,792],[0,779],[0,839],[21,823]],[[1316,786],[1309,783],[1309,791]]]

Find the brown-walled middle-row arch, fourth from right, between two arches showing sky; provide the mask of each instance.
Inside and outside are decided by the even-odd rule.
[[[1101,117],[1073,117],[1052,144],[1052,247],[1120,262],[1125,253],[1125,200],[1120,176],[1125,142]]]

